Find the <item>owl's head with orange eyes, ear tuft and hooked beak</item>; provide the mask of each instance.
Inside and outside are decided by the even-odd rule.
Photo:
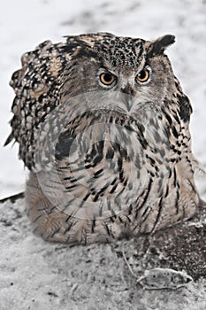
[[[160,106],[165,97],[172,97],[174,76],[164,55],[164,49],[174,42],[172,35],[155,42],[108,34],[81,38],[64,91],[67,88],[73,96],[88,94],[88,109],[109,109],[134,116],[147,103]]]

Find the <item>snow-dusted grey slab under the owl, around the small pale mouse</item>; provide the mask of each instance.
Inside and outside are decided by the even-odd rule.
[[[205,209],[201,221],[145,239],[72,248],[34,236],[24,199],[0,204],[0,213],[1,310],[205,310]],[[195,283],[176,290],[143,290],[126,266],[123,246],[138,278],[145,269],[151,273],[154,267],[175,267]]]

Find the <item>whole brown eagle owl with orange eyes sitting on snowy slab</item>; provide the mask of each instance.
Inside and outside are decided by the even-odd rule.
[[[25,53],[11,78],[11,135],[30,170],[34,232],[68,244],[110,242],[193,216],[200,198],[192,112],[164,50],[109,33]]]

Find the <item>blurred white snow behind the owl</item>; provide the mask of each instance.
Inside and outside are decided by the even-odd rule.
[[[59,42],[63,35],[95,31],[145,39],[176,35],[168,54],[192,100],[193,150],[206,165],[205,0],[7,0],[0,3],[0,198],[24,190],[27,175],[18,159],[18,145],[3,147],[11,130],[14,93],[9,81],[20,66],[20,56],[47,39]]]

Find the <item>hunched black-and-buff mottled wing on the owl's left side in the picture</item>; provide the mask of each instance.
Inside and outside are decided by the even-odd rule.
[[[34,168],[34,131],[46,116],[59,105],[61,73],[71,60],[73,47],[68,43],[41,43],[35,50],[23,54],[22,67],[12,74],[10,85],[14,89],[11,112],[11,140],[19,142],[19,158]]]

